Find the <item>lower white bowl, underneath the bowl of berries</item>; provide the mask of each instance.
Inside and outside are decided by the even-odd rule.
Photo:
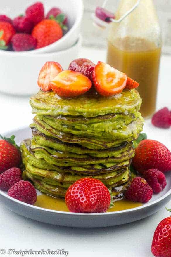
[[[26,55],[9,51],[0,52],[0,91],[13,95],[32,95],[37,93],[37,78],[41,67],[47,61],[59,62],[63,69],[78,57],[82,38],[79,37],[74,46],[56,53],[41,53]]]

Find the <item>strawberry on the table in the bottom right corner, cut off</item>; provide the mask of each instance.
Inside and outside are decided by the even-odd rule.
[[[158,224],[154,232],[151,252],[156,257],[171,257],[171,217],[165,218]]]

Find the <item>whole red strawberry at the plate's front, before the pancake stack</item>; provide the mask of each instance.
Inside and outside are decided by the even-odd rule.
[[[106,212],[110,206],[110,192],[98,179],[82,178],[72,184],[65,195],[65,202],[71,212]]]

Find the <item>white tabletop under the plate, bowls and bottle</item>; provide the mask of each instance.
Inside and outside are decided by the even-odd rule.
[[[105,61],[106,53],[103,50],[82,48],[80,57],[93,62]],[[162,56],[157,109],[165,106],[171,108],[170,62],[171,56]],[[29,97],[0,94],[0,133],[31,123],[33,115],[28,101]],[[148,120],[144,124],[144,132],[148,138],[164,143],[171,150],[171,129],[154,128]],[[171,202],[167,207],[171,208]],[[10,248],[34,251],[65,249],[69,252],[68,256],[72,257],[150,257],[154,230],[163,218],[170,215],[163,208],[148,218],[127,225],[86,229],[65,228],[30,220],[9,211],[1,203],[0,213],[0,248],[6,251]]]

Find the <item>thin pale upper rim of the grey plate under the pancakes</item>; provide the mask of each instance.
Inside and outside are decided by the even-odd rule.
[[[29,129],[29,126],[21,126],[21,127],[16,128],[16,129],[13,129],[13,130],[11,129],[9,131],[6,131],[2,134],[4,136],[6,136],[9,133],[14,133],[15,131],[24,130],[24,129]],[[27,204],[25,202],[19,201],[19,200],[15,199],[11,196],[8,196],[2,190],[0,190],[0,195],[9,199],[10,201],[21,204],[23,206],[27,206],[27,207],[30,207],[32,209],[37,209],[37,210],[41,210],[41,211],[45,211],[45,212],[49,212],[49,213],[58,213],[58,214],[64,214],[64,215],[99,216],[99,215],[113,215],[113,214],[117,215],[117,214],[122,214],[122,213],[131,213],[131,212],[134,212],[134,211],[138,211],[138,210],[141,210],[141,209],[148,208],[152,205],[160,203],[162,200],[164,200],[165,198],[170,196],[171,195],[171,188],[160,198],[158,198],[154,201],[150,200],[150,202],[148,202],[146,204],[143,204],[142,206],[138,206],[138,207],[135,207],[135,208],[126,209],[126,210],[122,210],[122,211],[111,211],[111,212],[102,212],[102,213],[78,213],[78,212],[56,211],[56,210],[46,209],[46,208],[42,208],[42,207],[39,207],[39,206],[34,206],[34,205],[31,205],[31,204]]]

